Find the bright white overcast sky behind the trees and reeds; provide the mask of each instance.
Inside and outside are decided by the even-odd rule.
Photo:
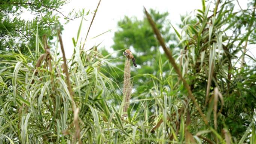
[[[239,0],[239,2],[242,8],[245,9],[247,7],[247,0]],[[90,9],[90,11],[93,12],[97,4],[98,0],[70,0],[70,3],[64,5],[61,11],[67,14],[72,9],[78,10],[84,8],[85,11]],[[143,6],[145,6],[146,9],[153,8],[160,12],[168,11],[168,20],[174,25],[181,22],[180,15],[185,15],[186,13],[192,13],[193,15],[195,9],[202,9],[201,0],[101,0],[97,15],[89,31],[85,48],[89,49],[102,42],[100,47],[105,46],[106,49],[111,51],[111,46],[113,45],[112,38],[118,28],[117,22],[124,18],[125,15],[136,16],[138,19],[142,19],[144,16]],[[88,21],[83,21],[80,33],[82,41],[85,39],[92,16],[92,14],[85,16],[85,19]],[[68,58],[70,58],[73,53],[72,37],[76,39],[80,21],[81,18],[77,18],[64,25],[63,40]],[[64,23],[65,21],[62,20],[61,22]],[[91,39],[107,30],[111,31],[95,39]]]

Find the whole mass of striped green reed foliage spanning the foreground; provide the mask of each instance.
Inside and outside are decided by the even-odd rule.
[[[85,51],[78,43],[82,21],[77,39],[72,39],[71,59],[59,56],[59,44],[63,53],[65,48],[65,42],[59,43],[60,33],[54,46],[36,33],[35,51],[27,47],[30,55],[18,47],[2,51],[0,144],[255,144],[255,66],[236,66],[248,34],[234,30],[231,17],[239,13],[228,9],[232,1],[220,2],[210,15],[210,6],[202,0],[196,21],[185,18],[182,33],[173,26],[182,45],[180,54],[169,53],[169,63],[157,49],[157,73],[139,75],[153,87],[132,98],[130,62],[126,61],[122,93],[115,89],[115,77],[101,73],[102,65],[118,68],[112,59],[97,47]],[[254,21],[248,22],[252,33]],[[225,34],[228,30],[234,35]],[[156,35],[171,52],[161,34]],[[163,72],[165,66],[168,72]]]

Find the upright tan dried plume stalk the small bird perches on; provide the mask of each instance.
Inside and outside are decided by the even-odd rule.
[[[124,68],[124,97],[125,97],[125,103],[124,103],[124,109],[123,109],[123,117],[127,117],[127,110],[129,108],[129,101],[131,99],[131,90],[132,90],[132,84],[131,84],[131,63],[129,59],[125,60],[125,68]]]

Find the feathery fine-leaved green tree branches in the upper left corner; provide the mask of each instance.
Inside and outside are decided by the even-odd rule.
[[[58,23],[59,15],[67,21],[83,15],[83,10],[63,15],[60,8],[66,3],[67,0],[1,0],[0,50],[17,50],[16,44],[22,53],[28,53],[25,45],[34,50],[36,39],[33,33],[37,28],[40,38],[46,34],[50,40],[53,39],[51,28]],[[30,12],[33,19],[22,19],[24,11]]]

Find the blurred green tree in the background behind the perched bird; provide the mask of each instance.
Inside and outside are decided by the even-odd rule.
[[[164,36],[167,43],[172,42],[168,46],[171,49],[177,44],[177,37],[175,34],[170,32],[170,26],[167,24],[168,12],[160,13],[156,10],[150,9],[150,14],[152,15],[157,27]],[[153,86],[147,77],[143,74],[158,74],[159,73],[159,60],[166,61],[167,58],[158,52],[159,44],[155,39],[152,29],[149,27],[149,23],[146,18],[142,20],[136,17],[129,18],[125,16],[124,19],[118,22],[120,27],[118,31],[115,32],[113,38],[114,45],[112,48],[115,51],[121,49],[130,49],[136,59],[136,64],[138,68],[132,68],[131,76],[133,77],[133,85],[137,89],[137,94],[150,89]],[[115,70],[112,68],[108,69],[109,75],[115,77],[117,83],[123,81],[122,71],[124,69],[125,58],[120,58],[123,55],[123,51],[118,51],[118,59],[114,60],[113,63],[116,67]],[[103,50],[103,55],[109,54],[107,50]],[[133,66],[132,66],[133,67]],[[165,63],[162,67],[162,72],[169,71],[168,64]],[[145,83],[146,82],[146,83]]]

